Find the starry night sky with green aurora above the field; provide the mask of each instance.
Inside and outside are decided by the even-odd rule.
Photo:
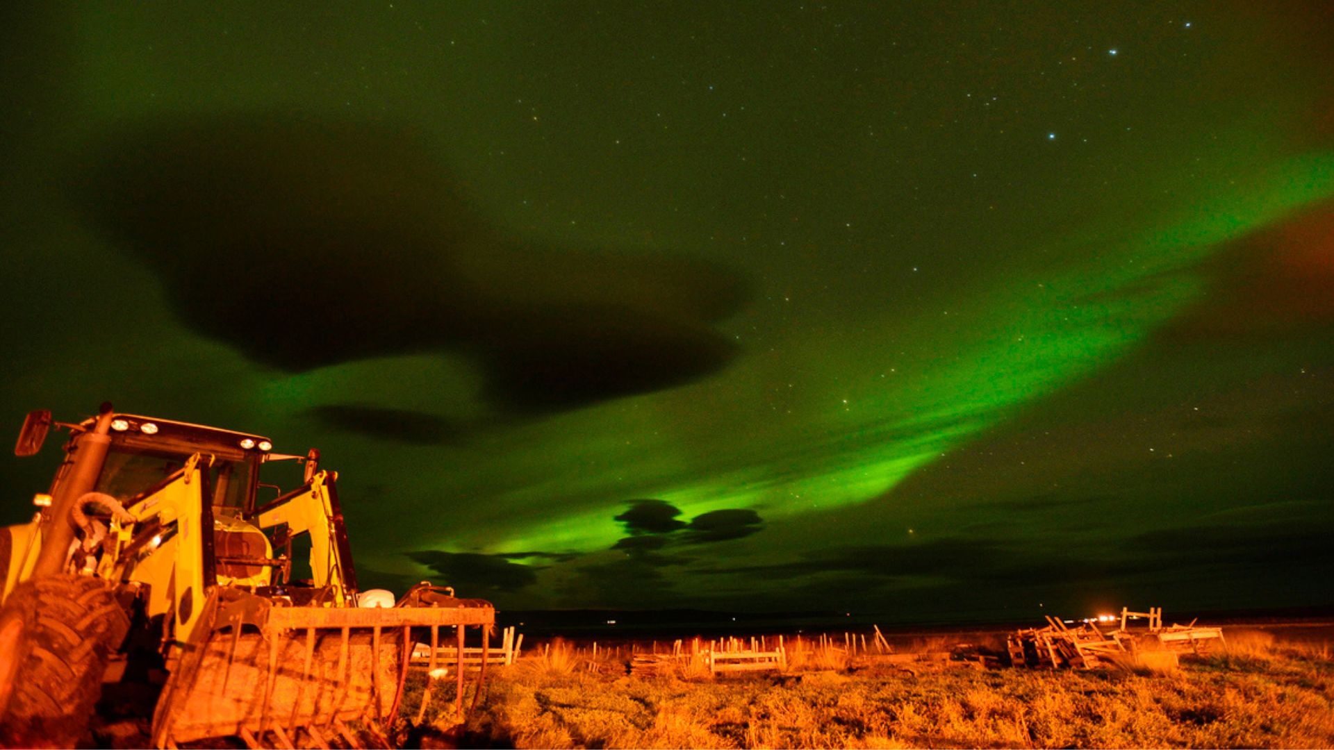
[[[1330,7],[1078,5],[7,5],[0,414],[319,446],[398,593],[1331,605]]]

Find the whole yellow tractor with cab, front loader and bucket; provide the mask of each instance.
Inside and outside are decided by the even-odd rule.
[[[0,745],[73,746],[104,683],[140,681],[160,687],[155,747],[359,746],[358,726],[398,713],[415,642],[454,627],[462,658],[476,626],[486,647],[488,602],[358,590],[338,475],[313,448],[103,404],[77,424],[29,414],[15,452],[52,426],[71,438],[51,490],[0,528]],[[260,480],[271,464],[289,491]]]

